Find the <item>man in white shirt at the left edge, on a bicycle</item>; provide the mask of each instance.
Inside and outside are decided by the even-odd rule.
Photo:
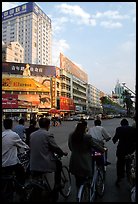
[[[12,174],[14,171],[17,180],[24,184],[25,172],[17,153],[18,149],[29,149],[29,146],[22,141],[16,132],[12,131],[12,119],[5,119],[3,125],[5,130],[2,132],[2,173]]]

